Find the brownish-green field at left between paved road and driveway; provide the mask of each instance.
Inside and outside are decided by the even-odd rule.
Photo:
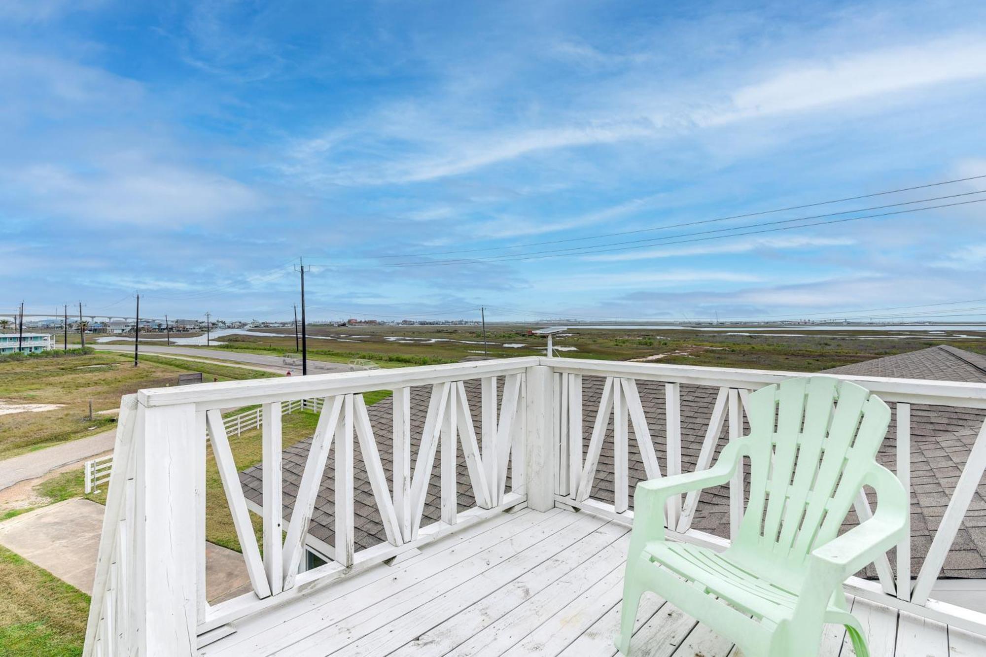
[[[110,429],[113,415],[99,411],[119,406],[120,397],[141,388],[174,386],[184,372],[202,372],[219,381],[275,376],[266,372],[160,356],[132,358],[97,352],[0,362],[0,400],[8,403],[57,403],[42,412],[0,415],[0,459]],[[89,401],[97,413],[89,418]]]

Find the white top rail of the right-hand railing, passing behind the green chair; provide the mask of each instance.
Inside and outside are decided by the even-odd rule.
[[[612,360],[582,360],[579,358],[541,358],[557,372],[598,376],[626,376],[634,379],[683,383],[695,386],[718,386],[755,390],[792,377],[821,374],[853,381],[877,393],[885,401],[904,401],[934,405],[986,408],[986,384],[925,379],[891,379],[810,372],[778,372],[746,370],[733,367],[696,365],[663,365],[656,363],[627,363]]]

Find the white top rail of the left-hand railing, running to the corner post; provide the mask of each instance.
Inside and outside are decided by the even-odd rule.
[[[147,407],[195,403],[200,410],[204,410],[264,401],[329,397],[371,390],[427,386],[486,376],[505,376],[540,365],[541,360],[536,356],[529,356],[448,365],[336,372],[307,377],[249,379],[177,388],[152,388],[137,393],[137,400]]]

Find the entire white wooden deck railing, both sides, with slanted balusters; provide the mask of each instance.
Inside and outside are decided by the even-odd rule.
[[[584,401],[585,378],[603,377],[601,399]],[[582,508],[629,523],[632,498],[628,463],[640,454],[648,477],[681,472],[682,386],[718,389],[698,469],[715,457],[723,427],[728,437],[742,431],[744,399],[764,385],[799,373],[590,361],[566,358],[514,358],[455,365],[413,367],[342,374],[203,384],[141,391],[124,398],[114,465],[106,501],[85,655],[192,654],[229,631],[226,623],[303,594],[332,586],[350,573],[380,563],[509,507],[535,510],[552,506]],[[986,386],[947,382],[843,377],[889,402],[896,402],[897,474],[910,488],[910,405],[986,408]],[[464,381],[481,382],[469,399]],[[666,455],[660,462],[638,383],[656,382],[664,390]],[[654,384],[649,384],[654,385]],[[420,449],[412,463],[411,388],[429,386]],[[362,393],[392,390],[393,474],[387,480]],[[687,389],[686,389],[687,390]],[[281,506],[282,402],[323,399],[305,472],[290,519]],[[220,409],[262,404],[262,555],[230,451],[228,427]],[[584,403],[598,404],[588,444],[583,439]],[[470,407],[481,406],[479,435]],[[611,438],[608,426],[612,422]],[[634,444],[629,442],[633,427]],[[243,547],[252,591],[217,605],[205,600],[205,463],[208,433]],[[727,438],[727,439],[729,439]],[[359,441],[367,474],[387,534],[387,542],[355,548],[353,448]],[[603,443],[612,440],[613,501],[594,497],[594,477]],[[422,511],[436,454],[441,449],[441,521],[423,525]],[[458,449],[462,450],[476,505],[458,511]],[[326,460],[334,452],[333,560],[300,571],[309,522]],[[511,489],[506,486],[511,469]],[[896,550],[896,576],[884,557],[880,581],[850,580],[851,593],[932,620],[986,632],[986,615],[929,596],[955,533],[986,467],[986,429],[980,430],[924,563],[912,578],[910,544]],[[731,486],[732,526],[743,509],[741,474]],[[728,540],[691,527],[697,494],[670,499],[671,536],[722,548]],[[865,497],[857,512],[867,517]],[[286,539],[282,536],[286,533]]]

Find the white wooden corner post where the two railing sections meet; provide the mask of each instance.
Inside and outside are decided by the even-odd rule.
[[[555,476],[553,379],[551,368],[537,365],[527,368],[525,404],[526,435],[524,441],[525,474],[527,477],[528,507],[548,511],[554,507]]]

